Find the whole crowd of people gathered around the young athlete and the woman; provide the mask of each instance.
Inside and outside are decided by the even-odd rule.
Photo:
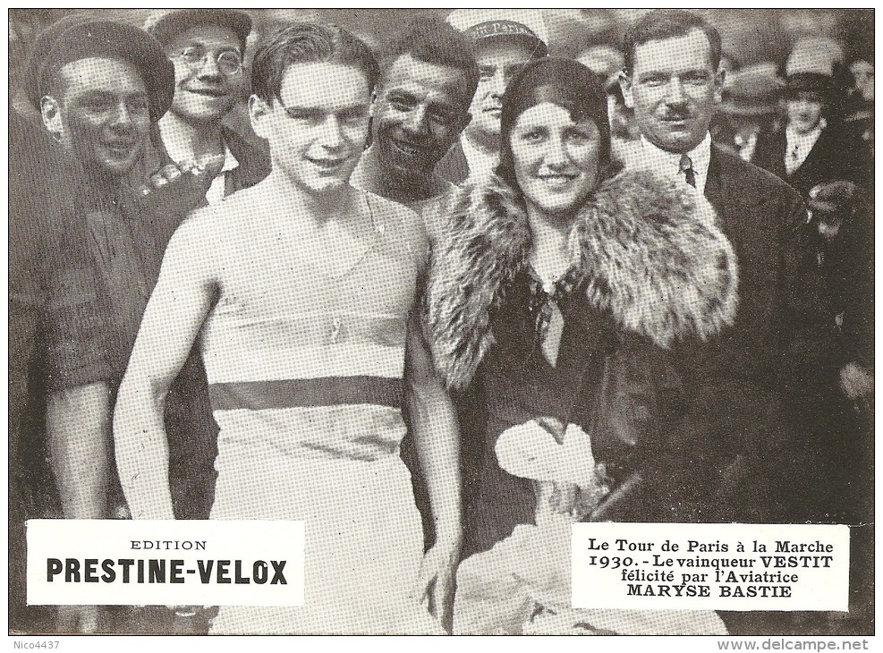
[[[306,522],[304,606],[190,632],[872,630],[870,57],[739,67],[676,10],[573,57],[534,10],[252,28],[71,13],[16,77],[11,629],[181,628],[26,606],[63,517]],[[852,612],[575,610],[582,521],[864,524]]]

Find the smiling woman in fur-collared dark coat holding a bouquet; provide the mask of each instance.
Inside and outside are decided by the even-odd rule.
[[[561,632],[598,632],[550,598],[568,588],[524,579],[569,579],[571,522],[708,519],[717,479],[707,445],[675,423],[666,350],[732,321],[735,258],[698,195],[614,174],[607,99],[582,64],[529,64],[500,124],[496,175],[448,203],[429,275],[436,367],[470,407],[454,629],[529,632],[558,615]],[[531,448],[540,439],[551,448]],[[672,627],[721,632],[711,617]]]

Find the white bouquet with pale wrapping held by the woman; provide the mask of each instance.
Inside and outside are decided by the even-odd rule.
[[[536,482],[536,524],[516,526],[457,572],[454,632],[463,634],[726,634],[711,611],[574,609],[571,527],[616,500],[590,437],[540,418],[507,429],[496,445],[510,474]],[[628,484],[629,480],[625,481]],[[603,519],[603,517],[600,517]]]

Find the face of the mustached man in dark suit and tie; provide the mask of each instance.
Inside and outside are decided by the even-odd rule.
[[[709,38],[696,29],[651,40],[635,47],[633,61],[622,88],[641,134],[658,148],[689,152],[705,139],[723,88]]]

